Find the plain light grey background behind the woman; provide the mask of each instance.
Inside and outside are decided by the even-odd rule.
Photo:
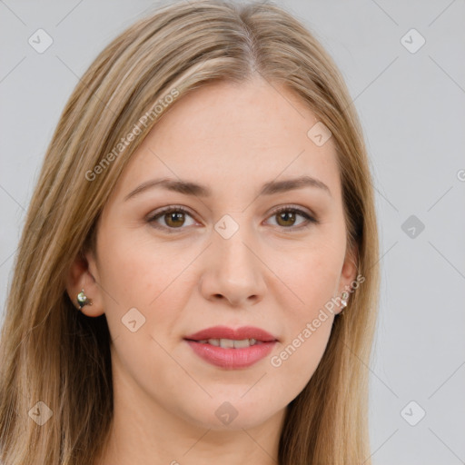
[[[465,463],[464,2],[279,4],[340,66],[371,157],[382,255],[381,317],[367,367],[373,463]],[[156,5],[0,0],[0,311],[69,94],[104,45]],[[43,54],[28,44],[39,28],[54,40]],[[415,53],[406,48],[420,45],[412,28],[426,40]]]

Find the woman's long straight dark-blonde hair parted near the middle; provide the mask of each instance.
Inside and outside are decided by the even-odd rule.
[[[200,0],[162,5],[114,38],[61,114],[28,207],[0,336],[5,465],[81,465],[99,457],[113,419],[111,337],[104,314],[76,311],[67,273],[77,257],[94,251],[109,194],[169,107],[159,105],[163,111],[153,117],[153,105],[170,102],[173,91],[178,102],[195,88],[242,84],[258,74],[299,96],[331,130],[347,246],[357,246],[364,277],[344,315],[334,319],[312,379],[287,406],[279,463],[371,463],[367,367],[378,312],[379,239],[370,162],[350,94],[322,45],[278,5]],[[119,146],[135,126],[140,134]],[[98,165],[91,182],[88,173]],[[39,401],[52,412],[43,425],[32,420]]]

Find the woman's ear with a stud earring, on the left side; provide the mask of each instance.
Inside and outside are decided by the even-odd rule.
[[[94,253],[79,253],[71,264],[66,277],[66,291],[74,307],[79,309],[77,294],[84,289],[84,294],[92,302],[92,305],[84,305],[81,312],[90,317],[100,316],[104,313],[102,288],[98,283],[99,281]]]

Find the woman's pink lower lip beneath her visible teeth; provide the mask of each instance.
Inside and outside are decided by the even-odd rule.
[[[274,347],[276,341],[263,342],[242,349],[224,349],[208,343],[186,341],[193,351],[204,361],[208,361],[217,367],[247,368],[266,357]]]

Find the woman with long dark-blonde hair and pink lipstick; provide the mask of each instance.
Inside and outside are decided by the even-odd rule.
[[[370,463],[378,233],[341,74],[276,5],[165,5],[95,59],[30,203],[5,464]]]

